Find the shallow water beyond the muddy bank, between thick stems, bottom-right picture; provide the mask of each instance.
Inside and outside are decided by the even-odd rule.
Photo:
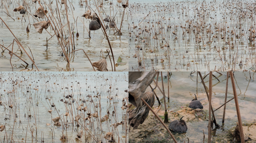
[[[204,106],[204,110],[208,110],[208,99],[204,91],[204,86],[202,85],[200,77],[198,75],[198,83],[196,84],[196,73],[193,73],[190,76],[191,72],[172,72],[170,77],[170,100],[167,99],[168,88],[167,88],[167,79],[164,79],[164,90],[167,102],[167,111],[170,115],[170,112],[176,112],[186,106],[195,98],[196,94],[199,101]],[[204,77],[208,72],[201,72]],[[215,76],[220,80],[213,77],[213,93],[212,93],[212,106],[213,110],[220,107],[225,100],[225,90],[226,90],[226,72],[219,73],[213,72]],[[161,75],[161,74],[160,74]],[[161,76],[159,75],[158,85],[162,88]],[[167,75],[167,72],[163,72],[163,75]],[[241,120],[244,123],[252,123],[256,120],[256,83],[254,81],[255,73],[251,72],[252,79],[250,80],[249,72],[235,72],[235,85],[238,95],[238,103],[240,108]],[[156,78],[155,78],[156,79]],[[209,76],[204,79],[205,85],[209,86]],[[154,83],[151,83],[152,87],[155,86]],[[150,87],[146,89],[146,92],[151,90]],[[161,89],[162,90],[162,89]],[[156,94],[163,104],[162,93],[158,88],[156,88]],[[233,98],[233,90],[231,85],[231,79],[229,77],[228,82],[228,96],[227,101]],[[164,105],[164,104],[163,104]],[[162,105],[161,109],[164,111],[164,106]],[[158,101],[155,99],[155,108],[158,108]],[[224,107],[224,106],[223,106]],[[222,115],[223,107],[214,112],[217,123],[222,126],[219,129],[212,130],[212,136],[217,134],[222,134],[226,130],[229,130],[232,127],[235,127],[237,124],[237,112],[235,109],[234,99],[226,104],[226,114],[225,114],[225,123],[222,124]],[[173,121],[170,119],[169,121]],[[175,119],[176,120],[176,119]],[[184,119],[185,120],[185,119]],[[185,120],[186,121],[186,120]],[[189,138],[190,142],[202,142],[203,140],[203,130],[205,133],[205,138],[208,136],[208,121],[189,121],[187,122],[188,130],[183,134],[174,134],[176,139],[179,137],[180,141],[184,141],[185,137]],[[215,127],[215,126],[214,126]],[[216,130],[216,133],[214,132]],[[131,130],[132,131],[132,130]],[[130,136],[131,138],[131,136]]]

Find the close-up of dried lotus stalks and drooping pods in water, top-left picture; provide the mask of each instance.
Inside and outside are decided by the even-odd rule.
[[[0,71],[128,71],[127,6],[0,0]]]

